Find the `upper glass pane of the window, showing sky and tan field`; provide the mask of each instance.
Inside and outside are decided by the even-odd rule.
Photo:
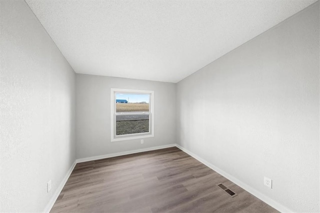
[[[150,94],[115,93],[116,112],[149,112]]]

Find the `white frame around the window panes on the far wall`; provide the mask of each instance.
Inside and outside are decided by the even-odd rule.
[[[123,114],[124,112],[116,112],[116,95],[115,93],[130,93],[130,94],[149,94],[149,132],[142,133],[132,133],[132,134],[123,134],[116,135],[116,115]],[[154,136],[154,91],[152,90],[137,90],[137,89],[123,89],[123,88],[111,88],[110,93],[110,120],[111,120],[111,141],[121,141],[121,140],[131,140],[131,139],[139,139],[146,137]],[[137,114],[137,113],[129,113],[125,114]],[[142,113],[141,113],[142,114]],[[145,114],[145,113],[144,113]]]

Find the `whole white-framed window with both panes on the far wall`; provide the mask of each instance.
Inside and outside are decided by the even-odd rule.
[[[153,93],[111,88],[111,141],[153,137]]]

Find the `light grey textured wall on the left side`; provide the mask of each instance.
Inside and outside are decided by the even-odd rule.
[[[0,211],[40,212],[75,160],[75,74],[23,0],[0,8]]]

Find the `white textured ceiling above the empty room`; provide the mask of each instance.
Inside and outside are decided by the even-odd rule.
[[[77,73],[178,82],[316,0],[26,0]]]

